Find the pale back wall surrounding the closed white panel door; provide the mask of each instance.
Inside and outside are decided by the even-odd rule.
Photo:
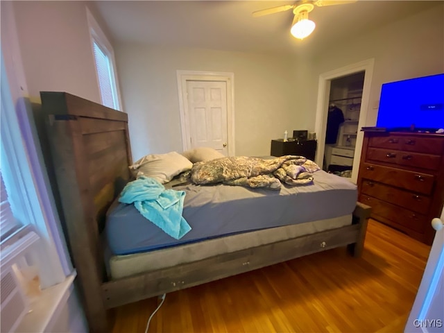
[[[135,160],[182,151],[178,69],[234,73],[236,155],[269,155],[271,139],[298,125],[290,123],[296,109],[289,57],[139,44],[116,44],[114,52]]]

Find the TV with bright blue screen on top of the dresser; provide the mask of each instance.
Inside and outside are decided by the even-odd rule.
[[[376,126],[389,130],[444,128],[444,74],[384,83]]]

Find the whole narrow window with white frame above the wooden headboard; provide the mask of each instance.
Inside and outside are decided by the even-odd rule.
[[[114,51],[99,24],[87,9],[89,32],[91,33],[92,51],[96,64],[97,82],[102,99],[102,104],[120,110],[119,90],[115,72]]]

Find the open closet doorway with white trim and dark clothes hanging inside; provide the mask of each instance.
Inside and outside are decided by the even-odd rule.
[[[341,174],[354,183],[357,182],[364,138],[361,128],[367,126],[373,64],[373,59],[365,60],[319,76],[316,163],[332,172],[349,170]],[[329,109],[334,112],[330,117]]]

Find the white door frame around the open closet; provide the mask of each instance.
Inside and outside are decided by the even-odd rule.
[[[316,163],[319,167],[323,167],[324,152],[325,152],[325,135],[327,130],[327,117],[328,117],[328,103],[330,100],[330,86],[332,80],[348,76],[351,74],[364,71],[364,86],[362,88],[361,110],[359,112],[358,128],[362,128],[367,125],[367,110],[369,105],[370,87],[373,77],[373,67],[375,65],[375,59],[371,58],[363,60],[352,65],[347,65],[339,69],[327,71],[319,76],[318,81],[318,99],[316,102],[316,118],[314,130],[318,139],[318,149],[316,151]],[[355,155],[353,157],[353,169],[351,181],[356,184],[359,171],[359,162],[361,160],[362,142],[364,139],[364,133],[358,130],[355,146]]]

